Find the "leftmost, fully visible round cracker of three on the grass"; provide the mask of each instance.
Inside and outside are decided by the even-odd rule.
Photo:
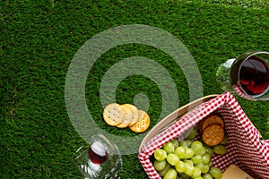
[[[121,124],[125,119],[124,109],[117,103],[111,103],[103,110],[104,121],[111,126]]]

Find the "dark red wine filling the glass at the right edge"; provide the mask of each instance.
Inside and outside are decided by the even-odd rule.
[[[253,55],[241,65],[239,71],[241,88],[248,95],[263,95],[269,88],[269,67],[265,61]]]

